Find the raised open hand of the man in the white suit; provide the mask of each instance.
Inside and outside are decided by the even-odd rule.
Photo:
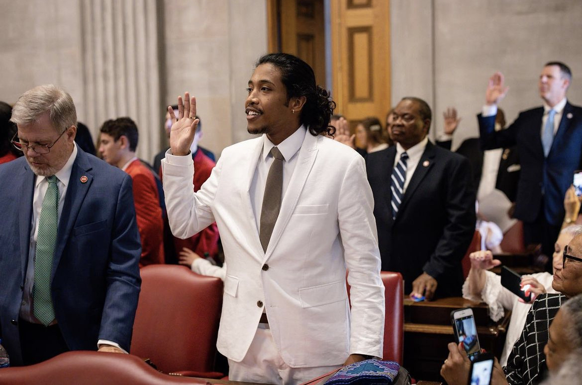
[[[184,101],[186,101],[184,103]],[[172,155],[188,155],[190,146],[194,140],[199,119],[196,119],[196,98],[189,92],[184,92],[184,99],[178,97],[178,116],[174,114],[171,106],[168,107],[172,129],[170,130],[170,149]]]

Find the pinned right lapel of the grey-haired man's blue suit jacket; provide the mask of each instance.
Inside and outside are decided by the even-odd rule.
[[[93,183],[93,174],[91,173],[92,168],[93,167],[91,167],[88,162],[87,154],[77,147],[77,158],[71,169],[69,186],[67,187],[65,202],[63,203],[61,218],[59,219],[59,230],[56,236],[55,256],[52,265],[53,276],[56,266],[58,266],[59,261],[61,261],[63,250],[65,249],[65,245],[69,239],[69,234],[73,229],[73,224],[77,219],[77,215],[79,215],[87,191],[91,187],[91,183]],[[83,177],[82,180],[84,180],[84,182],[81,181],[81,177]]]

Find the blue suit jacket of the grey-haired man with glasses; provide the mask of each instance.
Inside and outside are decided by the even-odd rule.
[[[81,176],[87,177],[85,183]],[[0,166],[0,333],[12,365],[22,364],[17,324],[35,179],[24,157]],[[129,351],[140,253],[131,177],[78,148],[59,220],[51,286],[56,320],[70,350],[96,350],[104,339]]]

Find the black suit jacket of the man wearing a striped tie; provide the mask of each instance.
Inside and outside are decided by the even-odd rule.
[[[382,270],[402,273],[404,291],[423,272],[438,281],[438,297],[460,295],[461,259],[475,231],[475,190],[469,161],[428,142],[392,220],[390,179],[396,146],[368,154]]]

